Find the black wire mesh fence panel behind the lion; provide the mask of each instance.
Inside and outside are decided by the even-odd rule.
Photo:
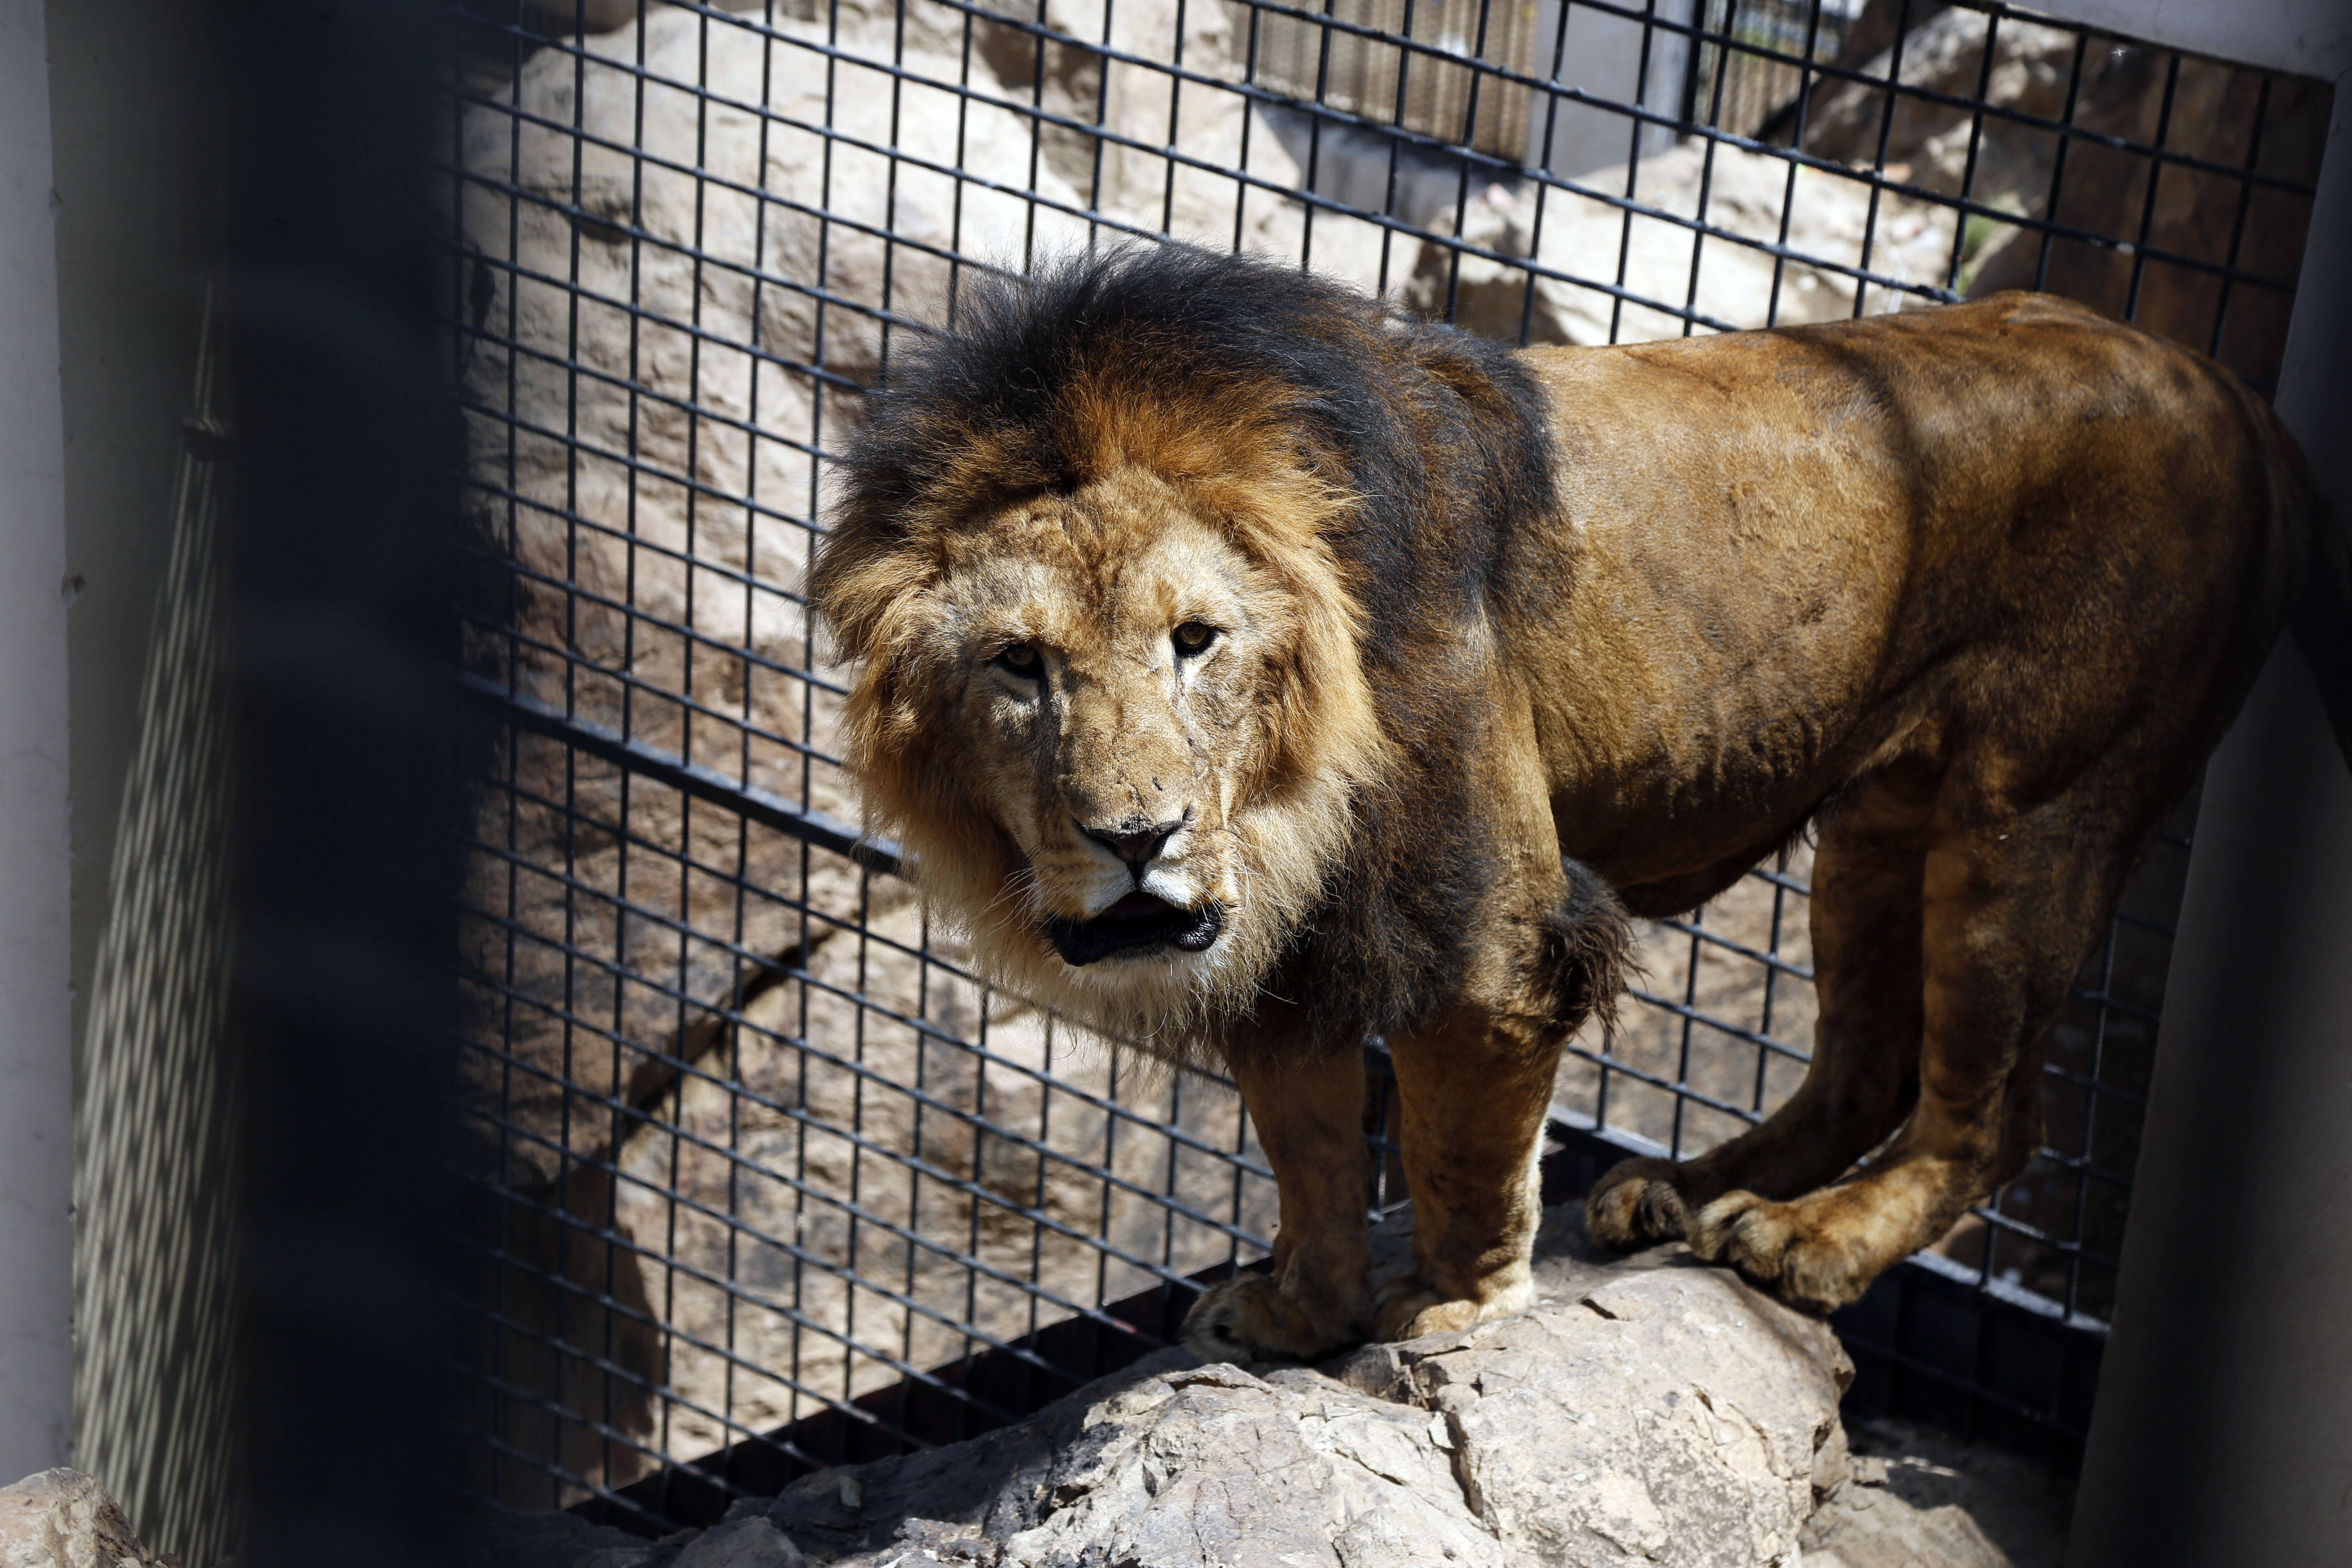
[[[1275,1218],[1228,1086],[978,980],[858,839],[800,585],[903,334],[953,329],[974,275],[1181,237],[1536,343],[2046,287],[2267,388],[2328,115],[2319,82],[1973,2],[463,21],[470,1441],[489,1495],[647,1526],[682,1486],[1035,1408],[1162,1342]],[[2190,820],[2058,1023],[2049,1147],[1926,1265],[1945,1307],[2096,1340]],[[1618,1030],[1562,1067],[1585,1159],[1705,1150],[1795,1088],[1806,872],[1799,844],[1646,929]],[[1872,1300],[1877,1396],[2079,1439],[2082,1389],[2002,1385],[1978,1331],[1926,1366],[1929,1307]]]

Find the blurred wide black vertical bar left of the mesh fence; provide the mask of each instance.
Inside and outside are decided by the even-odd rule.
[[[235,491],[228,910],[235,1556],[445,1563],[459,1396],[445,1166],[459,886],[447,273],[426,148],[447,14],[209,7],[228,110]],[[158,1006],[183,1006],[158,994]],[[134,1128],[125,1128],[132,1131]],[[132,1267],[148,1260],[129,1258]],[[188,1302],[193,1307],[193,1300]],[[125,1368],[129,1371],[129,1368]]]

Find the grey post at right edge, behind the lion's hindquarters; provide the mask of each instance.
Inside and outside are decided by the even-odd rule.
[[[2352,517],[2352,73],[2279,414]],[[2070,1568],[2352,1563],[2352,776],[2288,649],[2206,773]]]

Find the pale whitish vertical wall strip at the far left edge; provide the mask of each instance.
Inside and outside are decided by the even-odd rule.
[[[0,0],[0,1481],[73,1422],[66,484],[40,0]]]

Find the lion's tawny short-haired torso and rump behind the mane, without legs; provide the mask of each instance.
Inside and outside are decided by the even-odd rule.
[[[2070,301],[1531,367],[1564,468],[1536,534],[1576,581],[1519,635],[1555,797],[1628,844],[1665,830],[1661,858],[1802,813],[1926,712],[2058,757],[2171,691],[2201,731],[2284,614],[2267,409]]]

